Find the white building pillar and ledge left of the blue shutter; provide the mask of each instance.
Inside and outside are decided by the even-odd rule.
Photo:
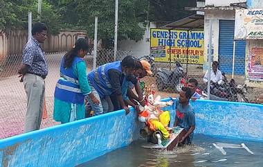
[[[220,19],[235,19],[234,10],[206,10],[204,18],[204,63],[203,70],[206,71],[208,67],[208,43],[209,43],[209,20],[212,19],[212,61],[218,60],[219,53],[219,20]]]

